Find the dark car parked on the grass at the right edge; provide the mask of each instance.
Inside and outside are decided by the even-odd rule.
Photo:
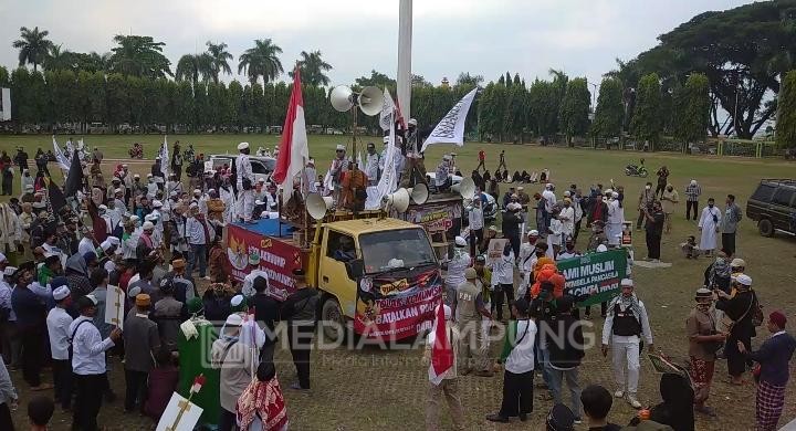
[[[746,203],[746,214],[763,236],[781,230],[796,234],[796,180],[764,179]]]

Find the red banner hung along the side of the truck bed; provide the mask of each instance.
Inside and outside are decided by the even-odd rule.
[[[269,283],[274,287],[295,292],[293,270],[302,267],[301,249],[239,225],[229,224],[227,229],[227,259],[232,278],[240,282],[251,271],[260,270],[269,274]]]

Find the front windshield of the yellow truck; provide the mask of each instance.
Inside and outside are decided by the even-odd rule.
[[[422,229],[401,229],[359,236],[365,272],[436,263],[433,250]]]

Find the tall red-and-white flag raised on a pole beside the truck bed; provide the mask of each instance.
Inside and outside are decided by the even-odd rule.
[[[282,185],[282,199],[287,202],[293,193],[293,180],[302,172],[310,158],[307,147],[306,123],[304,122],[304,98],[301,92],[301,76],[296,67],[293,74],[293,91],[287,104],[287,115],[282,128],[280,153],[272,178]]]

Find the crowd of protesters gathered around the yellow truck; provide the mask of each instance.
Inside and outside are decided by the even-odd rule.
[[[107,169],[102,153],[95,149],[86,156],[84,180],[66,204],[53,206],[49,171],[38,162],[34,179],[22,185],[19,198],[0,203],[4,246],[0,254],[0,429],[13,429],[10,407],[18,400],[7,365],[11,370],[21,369],[30,390],[52,393],[50,399],[71,411],[73,429],[98,428],[102,403],[116,397],[108,375],[113,365],[124,368],[124,409],[128,413],[159,420],[171,393],[187,393],[193,378],[202,375],[209,381],[192,401],[206,409],[202,420],[207,423],[218,424],[222,431],[287,428],[273,364],[279,340],[274,329],[280,322],[291,328],[287,343],[297,376],[291,388],[310,389],[310,346],[318,296],[302,270],[293,273],[297,288],[286,297],[273,295],[264,272],[253,271],[242,285],[230,280],[227,253],[220,244],[223,227],[271,217],[279,206],[275,185],[259,180],[252,171],[249,144],[241,143],[238,150],[233,166],[206,170],[202,154],[195,155],[192,148],[190,154],[181,151],[176,144],[169,160],[158,157],[143,180],[126,164]],[[71,155],[78,157],[74,151]],[[4,158],[0,158],[0,170],[7,167]],[[540,178],[527,176],[527,181],[525,174],[517,177],[520,181],[512,178],[513,183],[541,182],[540,192],[530,195],[525,186],[512,183],[499,200],[496,178],[507,181],[505,154],[501,154],[500,176],[488,176],[484,158],[481,151],[481,164],[473,171],[473,179],[480,180],[467,207],[469,229],[454,239],[443,264],[444,322],[436,325],[450,330],[455,366],[440,382],[429,386],[427,428],[438,429],[444,398],[454,425],[463,429],[457,379],[470,374],[493,377],[498,361],[503,365],[502,401],[488,420],[527,420],[534,388],[542,387],[545,398],[555,402],[547,417],[548,429],[570,430],[583,421],[595,430],[619,429],[607,420],[612,398],[636,409],[645,406],[638,397],[640,357],[643,347],[654,351],[650,325],[654,316],[648,315],[628,274],[619,283],[619,294],[600,306],[605,318],[601,354],[611,354],[612,393],[595,385],[582,389],[584,379],[578,371],[585,346],[580,320],[590,318],[590,309],[577,307],[583,298],[565,288],[557,264],[589,253],[627,250],[622,244],[632,234],[632,221],[626,222],[626,190],[594,185],[583,192],[572,185],[558,197],[549,171],[544,170]],[[404,176],[425,170],[417,162],[421,157],[406,159],[411,160],[404,161],[409,165],[402,169]],[[9,162],[24,171],[28,168],[21,160]],[[346,157],[346,148],[339,146],[328,174],[332,187],[325,186],[326,180],[315,181],[313,169],[306,181],[297,182],[295,193],[322,190],[339,193],[336,198],[344,206],[359,201],[359,189],[375,183],[371,176],[380,177],[381,160],[375,146],[368,145],[362,161],[365,169],[358,171],[357,164]],[[186,164],[189,186],[184,190]],[[438,190],[451,186],[450,177],[457,170],[455,155],[443,157],[437,169]],[[105,181],[107,171],[112,171],[109,181]],[[662,167],[658,177],[658,187],[648,182],[628,214],[636,219],[638,230],[646,231],[651,262],[660,260],[661,238],[671,232],[680,202],[669,170]],[[500,231],[485,225],[486,193],[500,202]],[[699,183],[692,180],[684,193],[687,219],[693,208],[696,221]],[[683,244],[689,257],[715,257],[705,271],[704,286],[694,295],[685,325],[690,370],[664,374],[662,402],[636,422],[652,420],[675,431],[693,430],[694,412],[716,414],[706,403],[719,358],[726,359],[733,385],[743,385],[744,374],[752,364],[758,365],[754,372],[758,380],[757,427],[773,430],[778,422],[796,340],[785,332],[782,312],[765,318],[752,288],[751,271],[736,256],[735,231],[742,213],[734,200],[729,195],[721,211],[709,199],[698,223],[700,241],[692,238]],[[587,240],[579,238],[584,231]],[[722,233],[721,248],[718,233]],[[200,288],[200,283],[207,287]],[[108,292],[116,288],[124,298],[108,302]],[[106,311],[114,306],[123,307],[124,324],[107,323]],[[213,323],[223,325],[218,329]],[[506,337],[500,357],[492,358],[489,339],[498,323],[505,325]],[[753,350],[751,340],[763,324],[772,337]],[[214,341],[203,351],[202,337],[208,334]],[[428,341],[431,355],[434,338],[430,335]],[[196,360],[202,355],[208,364]],[[43,378],[45,366],[52,369],[52,385]],[[542,382],[537,386],[534,378],[538,375]],[[32,423],[44,420],[48,411],[52,416],[52,404],[38,400],[29,404]]]

